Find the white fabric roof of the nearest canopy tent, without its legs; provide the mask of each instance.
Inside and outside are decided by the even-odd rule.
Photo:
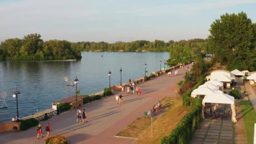
[[[208,94],[204,97],[203,103],[218,103],[218,104],[234,104],[235,99],[233,96],[229,96],[228,94],[215,92]]]

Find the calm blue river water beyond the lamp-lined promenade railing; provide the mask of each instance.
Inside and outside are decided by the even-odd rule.
[[[148,72],[159,70],[159,61],[168,59],[169,53],[82,52],[82,56],[81,61],[0,62],[0,91],[8,91],[8,108],[0,109],[0,122],[16,116],[16,99],[12,97],[16,86],[21,93],[19,117],[25,117],[35,114],[37,109],[50,108],[53,101],[75,95],[75,87],[66,86],[65,76],[73,83],[77,75],[77,90],[80,94],[91,94],[109,86],[109,69],[111,85],[117,85],[120,67],[122,82],[127,82],[129,78],[144,76],[145,62]]]

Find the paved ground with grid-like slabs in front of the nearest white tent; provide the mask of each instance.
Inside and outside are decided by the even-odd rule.
[[[237,123],[229,117],[209,117],[200,123],[190,144],[246,144],[245,126],[241,107],[236,107]]]

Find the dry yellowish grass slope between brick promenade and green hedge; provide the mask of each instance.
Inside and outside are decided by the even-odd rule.
[[[170,107],[165,111],[165,113],[154,121],[153,136],[151,136],[151,126],[149,126],[144,133],[141,133],[138,140],[134,141],[134,143],[159,144],[163,136],[168,136],[185,114],[187,114],[187,110],[182,106],[182,99],[176,99],[176,101],[171,103]]]

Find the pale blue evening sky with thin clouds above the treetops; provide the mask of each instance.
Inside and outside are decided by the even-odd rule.
[[[256,22],[256,0],[0,0],[0,41],[117,41],[207,38],[225,13]]]

